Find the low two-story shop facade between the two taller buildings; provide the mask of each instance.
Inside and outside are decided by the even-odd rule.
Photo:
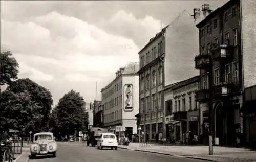
[[[195,76],[164,88],[166,139],[170,142],[184,142],[187,131],[200,136],[198,80]]]

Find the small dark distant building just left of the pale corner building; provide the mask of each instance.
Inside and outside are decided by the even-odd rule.
[[[103,108],[102,105],[99,104],[97,108],[94,109],[94,117],[93,117],[93,126],[103,128]]]

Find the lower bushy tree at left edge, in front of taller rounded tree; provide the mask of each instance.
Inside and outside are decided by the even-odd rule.
[[[28,91],[15,94],[12,91],[3,91],[0,96],[0,120],[2,129],[16,129],[24,127],[26,132],[40,131],[42,115],[37,103],[31,100]]]

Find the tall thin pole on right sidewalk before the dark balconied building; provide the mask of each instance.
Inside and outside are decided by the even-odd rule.
[[[212,91],[213,91],[213,63],[212,63],[212,56],[209,55],[209,101],[208,101],[208,107],[209,107],[209,116],[208,116],[208,120],[209,120],[209,155],[213,155],[214,154],[214,146],[212,143],[212,137],[213,137],[213,131],[212,131],[212,117],[213,115],[213,111],[212,111]]]

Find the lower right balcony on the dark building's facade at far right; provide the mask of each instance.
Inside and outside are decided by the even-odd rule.
[[[232,94],[232,84],[231,83],[221,83],[214,85],[214,97],[220,98]]]

